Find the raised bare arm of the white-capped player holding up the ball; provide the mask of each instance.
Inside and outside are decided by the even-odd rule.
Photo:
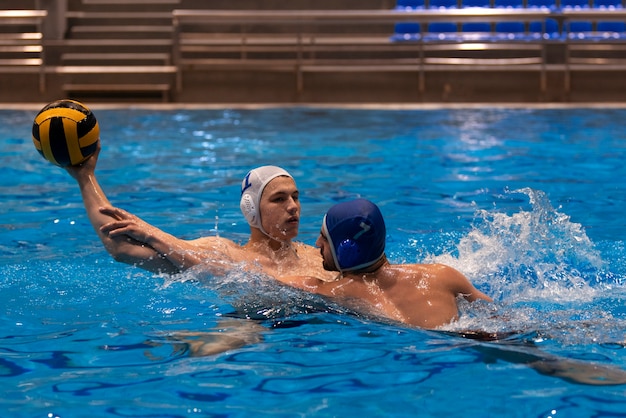
[[[153,248],[142,246],[141,243],[129,239],[125,236],[109,236],[100,228],[114,220],[111,215],[100,212],[103,206],[110,206],[109,199],[98,184],[95,170],[100,153],[100,145],[95,154],[79,166],[66,167],[66,171],[76,180],[80,187],[83,203],[87,211],[87,216],[102,241],[104,248],[114,259],[128,264],[135,264],[145,270],[155,273],[174,273],[178,271],[169,260],[163,258]]]

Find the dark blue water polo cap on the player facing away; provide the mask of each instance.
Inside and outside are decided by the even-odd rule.
[[[369,200],[333,206],[324,216],[322,230],[341,272],[369,267],[385,254],[385,221],[378,206]]]

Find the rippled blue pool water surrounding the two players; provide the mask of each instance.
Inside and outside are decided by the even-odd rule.
[[[112,261],[74,181],[32,145],[37,110],[0,110],[1,416],[626,411],[626,385],[554,373],[626,371],[626,110],[94,107],[109,198],[177,236],[244,242],[239,185],[262,164],[296,177],[309,244],[333,203],[374,200],[393,262],[450,264],[495,299],[437,332],[240,271]],[[233,323],[254,327],[240,347],[196,357],[181,343]]]

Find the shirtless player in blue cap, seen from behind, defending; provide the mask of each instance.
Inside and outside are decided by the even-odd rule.
[[[336,280],[285,277],[310,292],[366,303],[378,314],[408,325],[437,328],[458,317],[457,298],[491,301],[459,271],[442,264],[393,265],[385,257],[385,223],[365,199],[333,206],[317,240],[324,268]]]

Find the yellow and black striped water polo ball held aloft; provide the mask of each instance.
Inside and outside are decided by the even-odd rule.
[[[94,114],[75,100],[57,100],[35,116],[33,143],[46,160],[60,167],[79,165],[98,147],[100,127]]]

